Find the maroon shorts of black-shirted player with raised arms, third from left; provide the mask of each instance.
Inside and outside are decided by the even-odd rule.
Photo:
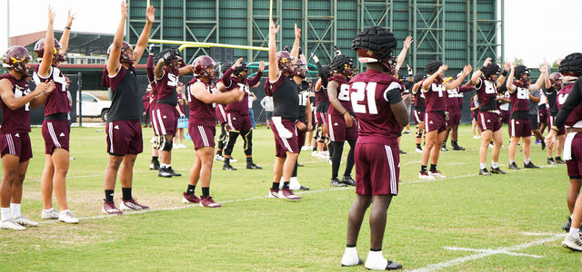
[[[144,150],[142,126],[137,120],[117,120],[105,123],[107,152],[114,156],[137,155]]]

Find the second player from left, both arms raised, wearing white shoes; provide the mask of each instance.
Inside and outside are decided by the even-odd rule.
[[[49,7],[50,9],[50,7]],[[52,13],[52,10],[49,12]],[[35,83],[55,83],[56,91],[46,97],[43,104],[45,121],[42,133],[45,139],[45,170],[41,177],[43,211],[41,219],[59,219],[65,223],[78,223],[66,203],[66,172],[69,170],[69,133],[68,112],[71,112],[66,92],[65,75],[58,66],[66,61],[66,49],[69,44],[71,24],[75,16],[69,11],[65,31],[60,42],[54,38],[53,22],[55,14],[49,15],[45,38],[35,44],[35,53],[42,59],[36,67],[33,79]],[[61,212],[53,209],[53,190]]]

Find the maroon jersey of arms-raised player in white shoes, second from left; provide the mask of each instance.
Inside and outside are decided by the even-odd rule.
[[[56,86],[55,91],[48,94],[48,97],[46,97],[45,103],[43,104],[45,116],[61,112],[71,112],[69,98],[66,95],[65,75],[63,75],[61,70],[56,66],[51,66],[48,76],[43,78],[38,74],[38,67],[40,67],[40,65],[36,66],[35,73],[33,74],[35,83],[38,84],[53,81]]]

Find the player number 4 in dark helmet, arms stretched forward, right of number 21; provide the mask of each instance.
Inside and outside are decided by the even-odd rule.
[[[422,164],[418,174],[419,179],[432,180],[435,178],[445,178],[437,170],[438,155],[447,135],[447,117],[445,114],[447,98],[445,97],[445,92],[450,89],[455,89],[463,83],[467,74],[471,73],[472,67],[470,64],[465,66],[461,76],[452,82],[444,83],[443,77],[447,69],[448,66],[441,61],[435,60],[426,63],[425,72],[427,78],[421,84],[422,92],[426,98],[426,146],[422,151]],[[429,158],[430,170],[426,171],[426,164],[428,164]]]

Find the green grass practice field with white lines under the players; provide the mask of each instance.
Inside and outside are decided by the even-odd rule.
[[[80,223],[49,220],[20,232],[1,229],[0,270],[365,270],[339,266],[354,188],[330,188],[329,164],[310,151],[299,158],[305,164],[299,180],[311,188],[300,193],[303,199],[267,199],[274,141],[271,131],[257,129],[255,162],[264,169],[244,169],[239,140],[233,154],[238,170],[223,171],[221,161],[213,168],[210,192],[223,208],[204,209],[181,202],[194,161],[192,141],[185,141],[187,149],[173,152],[173,167],[183,176],[158,178],[148,170],[151,129],[145,129],[145,152],[135,162],[134,196],[151,210],[112,217],[101,213],[107,161],[103,130],[71,131],[75,160],[67,175],[67,199]],[[507,127],[503,130],[500,167],[507,170]],[[23,213],[40,220],[45,159],[40,129],[33,129],[31,139],[35,158],[25,180]],[[547,166],[546,151],[532,146],[532,160],[542,169],[480,177],[480,140],[472,139],[468,126],[461,126],[459,139],[467,151],[441,152],[438,169],[447,179],[426,181],[417,179],[420,154],[414,151],[414,134],[402,137],[401,148],[408,153],[400,157],[399,195],[388,209],[385,257],[406,270],[582,269],[582,253],[560,246],[567,215],[566,166]],[[517,165],[523,166],[522,153]],[[340,175],[344,167],[342,163]],[[119,203],[118,181],[116,185]],[[199,187],[196,194],[201,194]],[[369,237],[366,218],[357,245],[362,258]]]

